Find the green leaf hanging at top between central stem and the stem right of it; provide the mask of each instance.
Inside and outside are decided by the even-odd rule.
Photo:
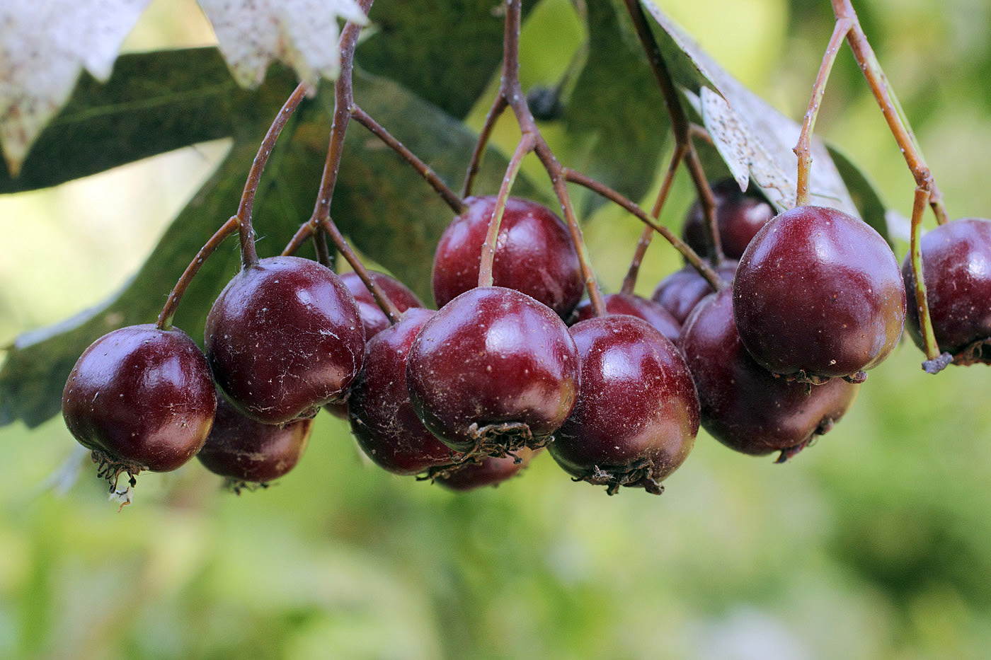
[[[622,12],[622,13],[620,13]],[[589,55],[565,109],[575,143],[591,143],[586,174],[639,199],[650,186],[669,133],[664,97],[625,10],[614,2],[588,4]],[[591,140],[590,140],[591,138]],[[583,192],[583,214],[603,200]]]

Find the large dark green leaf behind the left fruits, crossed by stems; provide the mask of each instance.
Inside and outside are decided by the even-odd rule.
[[[57,413],[65,379],[86,346],[115,328],[155,321],[172,283],[237,210],[258,143],[293,84],[289,75],[270,76],[254,94],[252,116],[257,118],[239,127],[227,159],[118,293],[83,314],[16,340],[0,369],[0,425],[21,419],[35,426]],[[312,212],[326,157],[332,95],[328,86],[316,102],[304,102],[282,131],[256,197],[254,226],[262,257],[278,254]],[[358,75],[355,97],[442,177],[460,179],[476,140],[464,124],[389,80]],[[234,120],[240,124],[241,117]],[[504,158],[490,154],[480,174],[483,184],[497,187],[505,166]],[[517,180],[517,188],[539,196],[525,178]],[[430,299],[433,251],[453,212],[416,171],[357,123],[348,131],[332,213],[357,247]],[[174,324],[201,341],[213,300],[239,266],[237,241],[229,240],[204,262]]]

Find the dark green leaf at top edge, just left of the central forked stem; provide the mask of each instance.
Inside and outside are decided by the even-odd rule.
[[[530,4],[524,4],[524,16]],[[355,60],[462,119],[502,59],[497,10],[493,0],[376,3],[369,18],[378,30],[358,47]]]

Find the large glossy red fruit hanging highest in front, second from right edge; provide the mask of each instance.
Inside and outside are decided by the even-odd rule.
[[[754,237],[733,281],[743,345],[765,369],[807,383],[866,378],[894,350],[905,283],[891,248],[842,211],[798,206]]]

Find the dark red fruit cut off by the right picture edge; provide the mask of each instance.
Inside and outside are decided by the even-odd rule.
[[[963,218],[922,240],[930,318],[941,353],[954,365],[991,364],[991,220]],[[906,328],[923,345],[911,255],[902,264],[909,309]]]

